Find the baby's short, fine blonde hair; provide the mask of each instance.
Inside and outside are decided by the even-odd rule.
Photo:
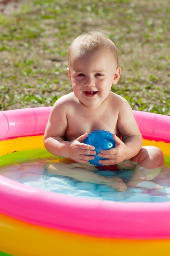
[[[99,49],[107,49],[111,54],[113,54],[113,58],[117,63],[117,67],[119,66],[119,58],[115,44],[108,36],[101,32],[91,31],[75,38],[68,49],[68,64],[71,60],[71,53],[77,49],[81,55]]]

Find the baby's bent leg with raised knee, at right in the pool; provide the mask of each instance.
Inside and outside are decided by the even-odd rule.
[[[148,182],[154,179],[164,166],[163,153],[159,148],[155,146],[142,147],[139,153],[131,160],[134,164],[136,163],[136,168],[130,181],[127,183],[128,186],[162,189],[158,184]]]

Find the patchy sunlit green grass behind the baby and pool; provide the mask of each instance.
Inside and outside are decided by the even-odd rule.
[[[134,110],[170,115],[169,0],[32,0],[0,14],[0,110],[51,106],[71,92],[67,50],[89,30],[119,52],[114,92]]]

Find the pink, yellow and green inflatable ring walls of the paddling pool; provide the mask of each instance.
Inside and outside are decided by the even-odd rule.
[[[0,112],[1,167],[33,159],[53,159],[43,144],[50,111],[51,107]],[[139,111],[134,114],[143,144],[161,148],[166,166],[170,166],[170,117]],[[0,175],[3,256],[167,254],[169,216],[170,202],[76,198]]]

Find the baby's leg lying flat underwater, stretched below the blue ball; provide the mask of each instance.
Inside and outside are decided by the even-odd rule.
[[[68,160],[69,161],[69,160]],[[104,177],[95,173],[98,171],[97,168],[93,166],[86,166],[85,164],[70,163],[66,164],[66,160],[60,159],[59,162],[47,163],[46,167],[51,173],[62,175],[66,177],[72,177],[75,180],[82,182],[89,182],[94,184],[106,184],[113,189],[124,192],[127,190],[127,185],[119,177]],[[90,168],[91,167],[91,168]],[[92,171],[91,171],[91,170]]]

